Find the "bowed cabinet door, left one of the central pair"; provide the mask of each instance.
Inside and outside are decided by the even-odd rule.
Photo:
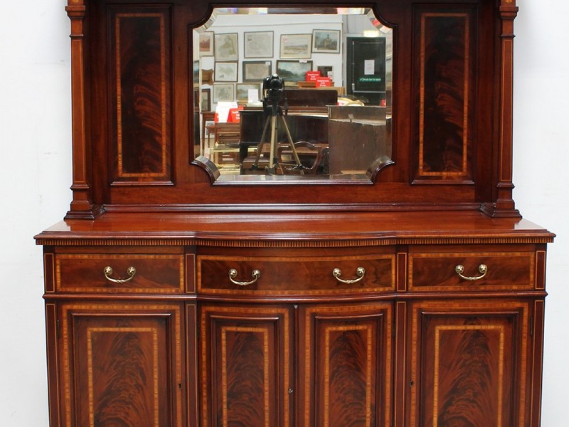
[[[201,305],[203,427],[292,426],[291,310]]]

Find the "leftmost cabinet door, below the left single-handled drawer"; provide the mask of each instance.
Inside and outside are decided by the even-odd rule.
[[[181,305],[60,305],[60,426],[186,426]]]

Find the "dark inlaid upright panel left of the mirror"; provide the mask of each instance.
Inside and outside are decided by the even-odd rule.
[[[109,9],[114,181],[171,181],[169,6]]]

